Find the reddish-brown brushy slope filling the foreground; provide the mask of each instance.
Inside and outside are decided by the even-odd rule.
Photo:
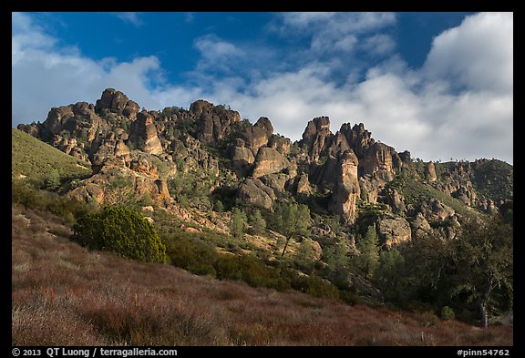
[[[434,315],[253,289],[87,251],[46,213],[13,206],[14,345],[512,345]]]

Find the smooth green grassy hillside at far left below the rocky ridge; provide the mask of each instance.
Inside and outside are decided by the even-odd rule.
[[[40,186],[57,169],[60,179],[85,178],[91,174],[91,165],[80,159],[12,128],[11,178],[24,178]],[[21,177],[23,176],[23,177]]]

